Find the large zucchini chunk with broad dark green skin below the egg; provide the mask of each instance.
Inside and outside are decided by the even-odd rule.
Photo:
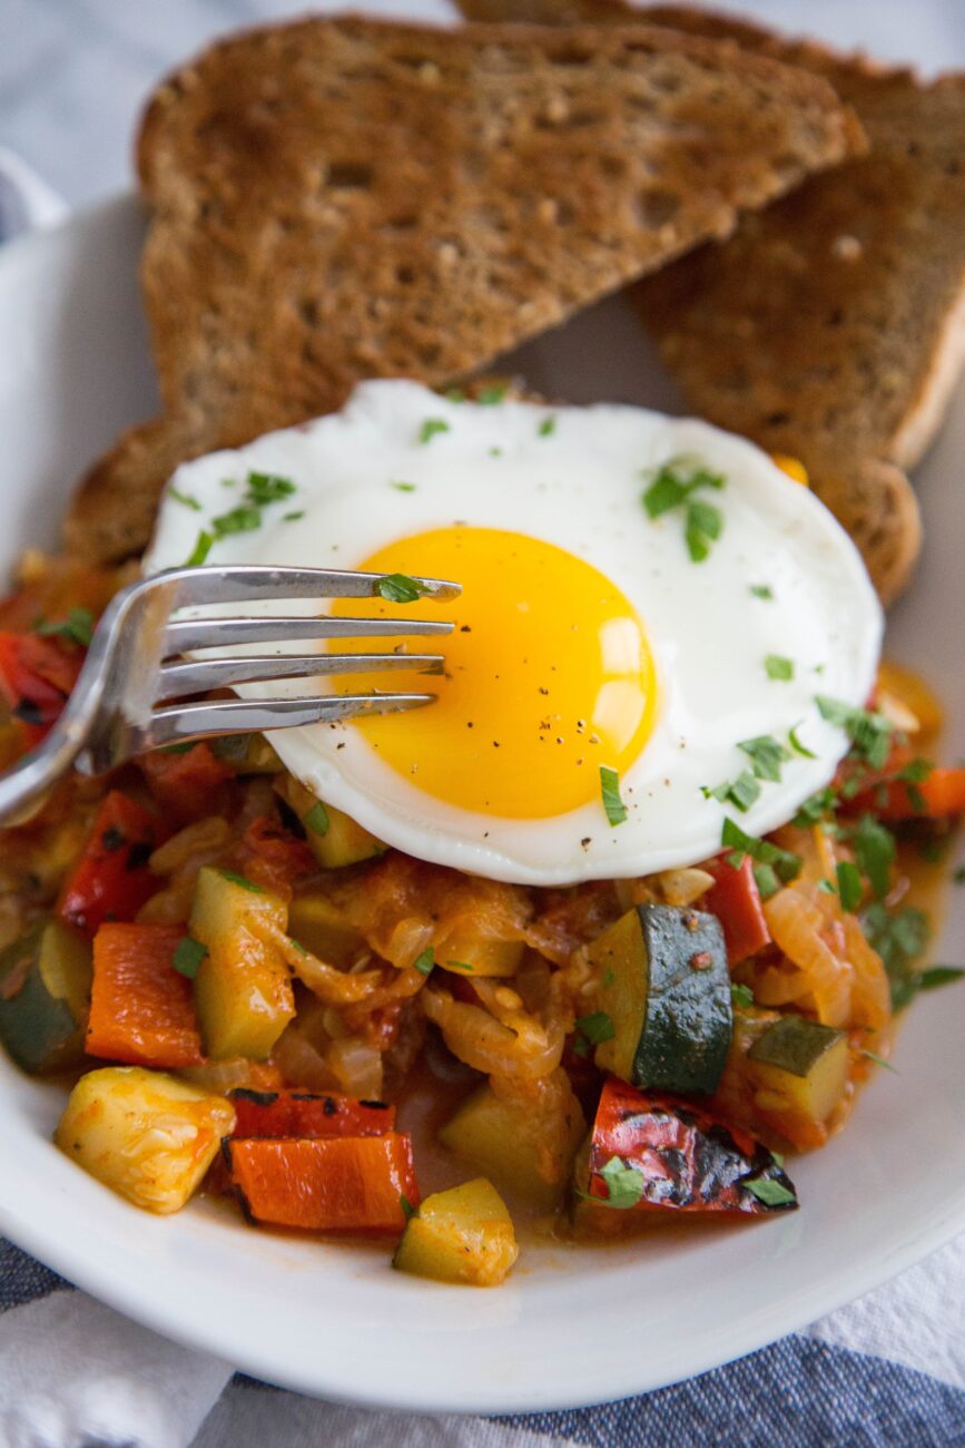
[[[731,1045],[731,977],[715,915],[637,905],[590,946],[613,1032],[596,1064],[635,1086],[716,1090]]]

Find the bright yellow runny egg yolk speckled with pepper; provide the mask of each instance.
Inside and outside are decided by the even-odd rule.
[[[460,809],[547,818],[600,798],[600,765],[625,772],[652,731],[657,678],[641,620],[598,569],[564,549],[498,529],[418,533],[359,560],[376,573],[462,584],[456,599],[340,599],[354,617],[449,618],[449,637],[407,640],[444,653],[446,675],[343,675],[341,694],[434,692],[404,714],[352,727],[421,792]],[[339,640],[366,652],[373,640]]]

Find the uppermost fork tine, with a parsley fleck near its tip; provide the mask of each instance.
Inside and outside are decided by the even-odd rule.
[[[177,586],[177,607],[234,604],[252,598],[376,598],[385,573],[356,573],[334,568],[272,568],[214,565],[181,568],[162,575]],[[456,598],[459,584],[417,578],[427,598]]]

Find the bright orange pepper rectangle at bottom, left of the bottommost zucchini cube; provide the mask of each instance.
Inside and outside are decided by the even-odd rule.
[[[401,1132],[314,1141],[237,1138],[224,1160],[246,1215],[315,1232],[401,1232],[418,1205],[412,1144]]]

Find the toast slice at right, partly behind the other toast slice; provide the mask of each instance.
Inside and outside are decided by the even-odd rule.
[[[907,70],[677,6],[463,0],[462,10],[556,25],[642,16],[800,65],[855,107],[868,156],[634,291],[692,405],[802,458],[893,598],[920,546],[903,469],[930,442],[965,358],[965,77],[923,85]]]

